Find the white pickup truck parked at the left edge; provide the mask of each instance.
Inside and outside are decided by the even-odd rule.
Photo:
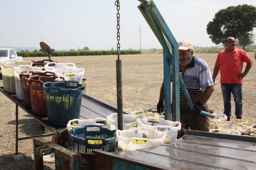
[[[6,60],[16,60],[16,61],[23,61],[21,56],[17,56],[17,53],[14,49],[6,49],[0,48],[0,62]],[[0,74],[2,74],[2,69],[0,67]]]

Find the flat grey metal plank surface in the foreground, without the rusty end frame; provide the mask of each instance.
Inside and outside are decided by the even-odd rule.
[[[256,170],[256,137],[210,132],[187,131],[178,141],[147,149],[94,153],[119,161],[116,169],[125,162],[146,169]]]

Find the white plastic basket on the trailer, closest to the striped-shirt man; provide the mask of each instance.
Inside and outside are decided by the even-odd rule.
[[[161,119],[160,117],[155,118],[156,121],[150,121],[150,117],[144,119],[137,119],[139,127],[148,128],[153,131],[165,132],[166,138],[164,143],[170,143],[177,139],[178,131],[180,131],[181,123],[178,121],[169,121]]]

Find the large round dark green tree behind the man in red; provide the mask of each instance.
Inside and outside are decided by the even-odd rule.
[[[252,31],[255,27],[256,7],[244,4],[229,6],[217,12],[206,31],[216,45],[224,44],[227,37],[234,37],[244,49],[254,42]]]

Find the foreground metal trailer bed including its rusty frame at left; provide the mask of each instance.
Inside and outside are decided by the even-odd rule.
[[[55,154],[55,168],[70,170],[256,170],[256,137],[186,131],[177,141],[121,152],[92,150],[79,154],[43,138],[34,138],[35,168],[42,156]],[[87,162],[85,166],[82,162]]]

